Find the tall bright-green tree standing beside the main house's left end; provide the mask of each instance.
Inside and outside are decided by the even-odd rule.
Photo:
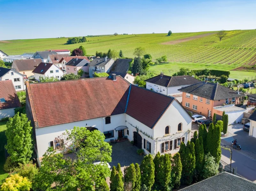
[[[11,161],[16,164],[28,163],[33,153],[33,145],[31,139],[32,127],[30,121],[27,121],[26,114],[19,115],[18,112],[9,119],[6,126],[7,145],[5,145],[5,149],[10,154]]]

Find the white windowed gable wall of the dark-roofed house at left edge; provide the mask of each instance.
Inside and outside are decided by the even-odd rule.
[[[12,75],[13,72],[13,75]],[[14,78],[19,78],[19,81],[14,81]],[[2,77],[0,77],[0,81],[4,80],[12,80],[13,86],[20,86],[20,89],[15,88],[16,91],[25,90],[26,86],[24,84],[23,75],[19,72],[16,72],[14,70],[10,70],[8,73],[4,74]]]

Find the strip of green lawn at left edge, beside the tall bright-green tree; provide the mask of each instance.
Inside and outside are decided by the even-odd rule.
[[[3,181],[7,178],[8,173],[4,171],[4,145],[6,144],[5,130],[6,130],[7,121],[0,122],[0,185],[3,184]]]

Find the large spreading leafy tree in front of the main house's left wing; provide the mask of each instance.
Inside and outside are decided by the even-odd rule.
[[[60,191],[89,191],[105,184],[106,177],[110,176],[107,162],[112,160],[112,148],[105,142],[103,133],[74,127],[55,138],[55,142],[59,143],[55,150],[50,147],[43,155],[33,190],[53,190],[51,185],[55,184],[56,190]],[[64,156],[66,150],[74,153],[73,159]],[[100,164],[94,164],[95,161]]]

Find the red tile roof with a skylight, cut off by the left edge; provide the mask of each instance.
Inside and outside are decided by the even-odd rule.
[[[0,98],[5,99],[4,103],[0,102],[0,110],[21,106],[12,80],[0,81]]]

